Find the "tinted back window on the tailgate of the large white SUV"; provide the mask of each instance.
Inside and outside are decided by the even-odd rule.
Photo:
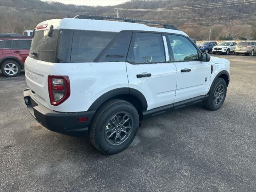
[[[56,62],[58,34],[59,30],[53,30],[52,36],[49,37],[48,30],[36,31],[30,48],[30,51],[36,54],[30,54],[30,57],[47,62]]]

